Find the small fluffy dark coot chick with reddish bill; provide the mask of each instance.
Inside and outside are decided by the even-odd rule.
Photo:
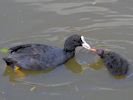
[[[90,49],[103,59],[103,62],[112,75],[126,75],[129,63],[121,55],[103,49]]]

